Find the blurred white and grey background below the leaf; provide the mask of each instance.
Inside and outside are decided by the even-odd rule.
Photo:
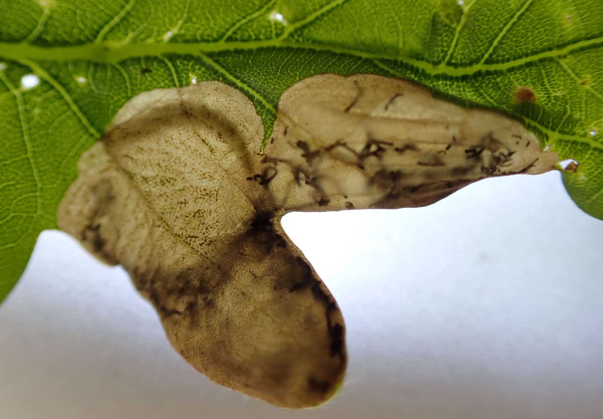
[[[49,231],[0,305],[0,418],[603,417],[603,222],[558,173],[283,224],[346,319],[329,405],[285,411],[214,385],[121,268]]]

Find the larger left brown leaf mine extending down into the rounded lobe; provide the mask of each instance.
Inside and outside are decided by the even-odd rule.
[[[263,134],[253,104],[222,83],[141,94],[82,156],[58,223],[125,267],[201,373],[315,406],[343,379],[344,322],[280,227],[256,155]]]

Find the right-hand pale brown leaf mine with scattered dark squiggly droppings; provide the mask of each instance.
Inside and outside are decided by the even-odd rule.
[[[522,124],[374,74],[308,77],[283,92],[264,170],[287,211],[429,205],[479,179],[554,170]]]

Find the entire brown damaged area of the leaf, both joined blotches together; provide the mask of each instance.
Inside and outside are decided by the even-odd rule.
[[[125,267],[194,368],[286,408],[329,400],[347,354],[341,312],[285,213],[423,206],[558,161],[516,121],[368,74],[291,86],[258,154],[263,138],[251,101],[224,83],[137,95],[81,157],[57,219]]]

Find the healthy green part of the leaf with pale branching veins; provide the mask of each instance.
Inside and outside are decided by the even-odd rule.
[[[245,92],[269,138],[281,92],[300,78],[411,78],[507,112],[576,159],[567,190],[603,219],[601,0],[0,0],[0,10],[0,300],[122,104],[201,80]],[[28,89],[29,74],[39,84]]]

